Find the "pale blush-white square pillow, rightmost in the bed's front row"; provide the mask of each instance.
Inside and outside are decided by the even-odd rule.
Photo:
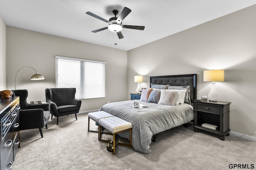
[[[174,106],[175,99],[178,95],[178,91],[161,89],[160,100],[158,104]]]

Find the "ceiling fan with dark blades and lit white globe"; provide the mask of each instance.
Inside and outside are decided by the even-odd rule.
[[[86,14],[88,14],[89,16],[92,16],[94,18],[97,18],[99,20],[102,20],[109,24],[108,27],[104,27],[104,28],[100,28],[100,29],[96,29],[96,30],[92,31],[93,33],[97,33],[99,31],[103,31],[105,29],[109,29],[110,31],[116,32],[118,35],[118,38],[122,39],[122,38],[124,38],[124,36],[121,33],[122,28],[138,29],[138,30],[144,30],[144,28],[145,28],[144,26],[122,25],[122,21],[124,20],[124,18],[126,18],[126,16],[128,16],[128,14],[130,14],[131,11],[132,10],[130,10],[129,8],[124,7],[121,14],[117,18],[116,15],[118,14],[118,10],[113,10],[112,12],[115,17],[112,17],[109,20],[105,20],[104,18],[101,18],[101,17],[93,14],[92,12],[86,12]]]

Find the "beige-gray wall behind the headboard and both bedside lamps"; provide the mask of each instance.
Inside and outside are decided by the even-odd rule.
[[[230,129],[256,131],[256,5],[128,51],[128,92],[135,92],[134,75],[198,74],[198,98],[208,95],[211,82],[203,71],[224,69],[216,82],[219,101],[232,102]],[[256,134],[252,135],[256,137]]]

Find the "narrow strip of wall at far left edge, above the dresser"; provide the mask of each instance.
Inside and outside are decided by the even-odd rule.
[[[0,16],[0,91],[6,90],[6,25]]]

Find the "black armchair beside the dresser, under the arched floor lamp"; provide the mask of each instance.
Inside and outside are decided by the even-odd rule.
[[[20,97],[20,130],[39,129],[41,137],[43,137],[42,128],[50,119],[50,104],[28,104],[28,90],[12,90],[12,97]]]

